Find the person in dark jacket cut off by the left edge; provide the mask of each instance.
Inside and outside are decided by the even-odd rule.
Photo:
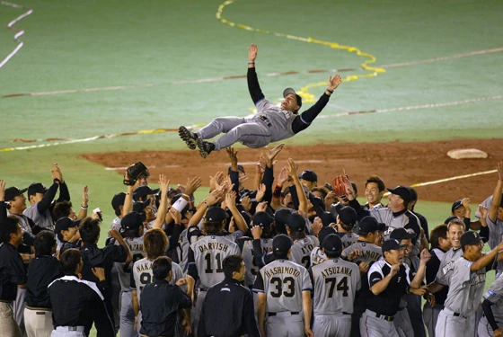
[[[2,184],[2,182],[0,182]],[[1,196],[1,199],[4,199]],[[0,200],[4,203],[4,200]],[[13,316],[13,301],[17,288],[24,288],[26,270],[17,247],[22,243],[19,219],[7,217],[0,222],[0,336],[21,337],[19,325]]]

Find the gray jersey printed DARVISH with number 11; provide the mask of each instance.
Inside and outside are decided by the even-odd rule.
[[[198,269],[199,288],[210,288],[225,279],[222,262],[228,255],[241,255],[239,247],[223,236],[207,235],[190,245]]]

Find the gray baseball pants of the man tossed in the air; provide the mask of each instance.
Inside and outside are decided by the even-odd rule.
[[[263,147],[272,139],[270,129],[266,125],[259,120],[247,120],[243,117],[218,117],[197,132],[203,139],[215,137],[220,133],[225,135],[213,142],[216,151],[236,142],[253,148]]]

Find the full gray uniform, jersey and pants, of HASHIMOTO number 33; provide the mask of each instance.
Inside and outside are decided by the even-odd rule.
[[[309,273],[295,262],[276,260],[260,269],[253,291],[266,295],[269,336],[304,337],[302,293],[311,290]]]

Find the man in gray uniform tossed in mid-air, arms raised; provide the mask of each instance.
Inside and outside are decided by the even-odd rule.
[[[180,127],[178,132],[181,139],[192,150],[196,149],[196,146],[199,147],[199,154],[203,158],[213,151],[232,146],[236,142],[253,148],[263,147],[307,129],[316,116],[322,112],[331,94],[341,82],[340,75],[334,75],[333,78],[329,76],[328,86],[322,97],[302,114],[298,114],[302,106],[302,98],[292,88],[285,89],[283,92],[285,99],[280,106],[276,106],[269,102],[260,90],[259,79],[255,72],[257,51],[257,46],[254,44],[248,49],[247,75],[248,89],[257,107],[256,115],[247,118],[218,117],[195,133],[183,126]],[[205,140],[220,133],[225,133],[225,135],[214,142]]]

